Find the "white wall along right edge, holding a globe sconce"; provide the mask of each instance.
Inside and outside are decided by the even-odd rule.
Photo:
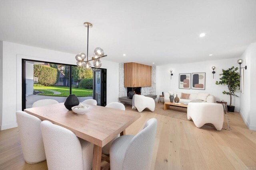
[[[247,66],[247,70],[244,70],[244,93],[240,94],[240,114],[248,128],[256,131],[256,43],[250,44],[241,58],[244,60],[241,67]]]

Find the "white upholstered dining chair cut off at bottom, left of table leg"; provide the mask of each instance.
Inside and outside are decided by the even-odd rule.
[[[92,143],[50,121],[42,121],[41,129],[49,170],[92,169]]]

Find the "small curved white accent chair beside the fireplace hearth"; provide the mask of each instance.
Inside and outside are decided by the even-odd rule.
[[[143,95],[134,96],[134,106],[139,112],[142,112],[146,108],[150,109],[150,111],[154,111],[155,105],[156,104],[153,98],[146,97]]]

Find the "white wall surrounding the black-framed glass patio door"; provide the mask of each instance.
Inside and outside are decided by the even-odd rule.
[[[21,110],[21,59],[49,61],[63,64],[76,64],[76,54],[63,53],[3,41],[2,82],[2,123],[0,129],[16,127],[17,110]],[[118,63],[103,61],[107,69],[107,103],[118,101]],[[1,68],[0,68],[1,69]],[[1,75],[1,74],[0,74]],[[1,100],[1,99],[0,99]]]

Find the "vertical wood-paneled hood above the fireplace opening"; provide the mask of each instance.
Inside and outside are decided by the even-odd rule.
[[[124,63],[124,87],[151,86],[152,66]]]

